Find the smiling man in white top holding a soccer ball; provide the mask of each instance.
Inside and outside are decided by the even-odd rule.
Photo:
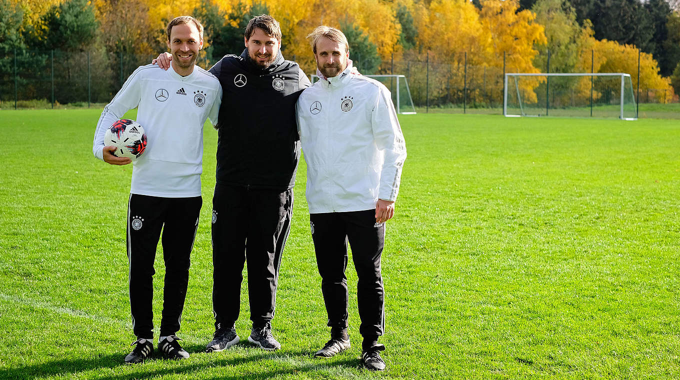
[[[127,212],[127,255],[130,307],[135,349],[125,362],[143,362],[153,352],[153,281],[156,245],[163,230],[163,317],[158,351],[166,358],[188,358],[177,343],[189,279],[190,253],[199,225],[203,124],[218,122],[222,86],[217,78],[195,66],[203,47],[203,26],[180,16],[167,26],[167,44],[173,61],[168,71],[141,66],[126,80],[116,97],[104,107],[97,123],[92,151],[111,165],[127,165],[129,158],[112,154],[104,133],[135,107],[148,147],[133,162]]]

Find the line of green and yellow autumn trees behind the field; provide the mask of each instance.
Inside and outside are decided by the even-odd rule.
[[[466,68],[483,69],[484,73],[502,73],[503,69],[534,73],[547,69],[626,72],[632,74],[636,85],[639,51],[640,82],[647,88],[671,93],[674,85],[675,93],[680,93],[678,3],[678,0],[176,3],[0,0],[0,75],[8,80],[16,65],[33,65],[37,73],[44,71],[45,67],[35,63],[47,62],[48,54],[54,54],[52,51],[61,54],[60,72],[84,75],[82,69],[78,71],[78,65],[87,52],[88,67],[97,71],[90,75],[111,77],[116,82],[118,66],[122,65],[116,57],[135,54],[144,57],[143,63],[166,51],[165,25],[182,14],[195,16],[203,23],[205,49],[199,64],[209,67],[224,54],[241,53],[243,29],[253,15],[271,14],[281,22],[282,54],[298,61],[307,73],[313,73],[316,67],[305,37],[318,24],[328,24],[345,31],[350,41],[350,58],[364,73],[397,73],[395,63],[403,70],[406,63],[426,60],[428,65],[440,67],[433,89],[435,96],[446,96],[449,91],[451,97],[450,88],[460,85],[456,65],[460,67],[463,59]],[[491,92],[498,93],[494,86],[499,86],[499,81],[489,86]],[[533,90],[539,84],[526,82],[525,86],[530,86],[526,90]],[[585,93],[585,82],[575,86]],[[470,96],[475,101],[475,96],[482,95],[473,92]]]

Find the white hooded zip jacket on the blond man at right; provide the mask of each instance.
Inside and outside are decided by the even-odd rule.
[[[351,72],[350,63],[336,77],[320,76],[298,99],[309,213],[375,209],[399,192],[406,144],[392,96]]]

